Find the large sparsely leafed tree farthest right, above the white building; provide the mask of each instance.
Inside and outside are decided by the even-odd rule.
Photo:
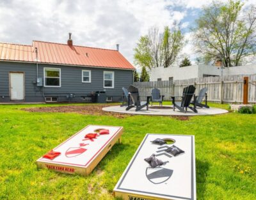
[[[196,20],[195,46],[205,60],[221,57],[223,66],[238,66],[256,53],[256,10],[240,1],[212,3]]]

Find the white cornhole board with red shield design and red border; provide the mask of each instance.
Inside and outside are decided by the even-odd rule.
[[[109,134],[98,134],[94,139],[84,138],[88,133],[98,132],[97,129],[108,129]],[[52,160],[40,157],[36,164],[38,168],[88,175],[116,141],[121,141],[122,132],[123,127],[88,125],[53,149],[54,152],[61,152],[61,155]]]

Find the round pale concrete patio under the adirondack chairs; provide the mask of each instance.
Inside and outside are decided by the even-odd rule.
[[[186,113],[180,112],[178,109],[175,109],[173,111],[172,106],[163,106],[164,109],[160,108],[150,108],[149,106],[148,110],[147,108],[143,108],[140,111],[135,111],[135,107],[131,108],[130,110],[125,110],[124,107],[120,106],[109,106],[102,108],[104,111],[110,111],[115,113],[125,113],[130,115],[178,115],[178,116],[195,116],[195,115],[218,115],[223,113],[228,113],[227,110],[223,110],[220,108],[196,108],[198,113],[194,113],[190,109]],[[153,106],[154,107],[154,106]]]

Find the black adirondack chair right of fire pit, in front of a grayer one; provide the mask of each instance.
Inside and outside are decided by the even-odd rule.
[[[195,113],[197,113],[195,104],[193,107],[189,106],[189,104],[191,103],[191,99],[193,97],[195,101],[195,90],[196,88],[193,85],[189,85],[188,87],[185,87],[183,89],[181,101],[175,101],[175,96],[172,96],[173,111],[175,111],[175,108],[178,108],[183,113],[186,113],[186,111],[188,111],[188,108],[189,108]]]

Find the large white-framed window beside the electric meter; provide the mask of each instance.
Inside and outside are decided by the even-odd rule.
[[[44,86],[61,87],[60,68],[44,68]]]

